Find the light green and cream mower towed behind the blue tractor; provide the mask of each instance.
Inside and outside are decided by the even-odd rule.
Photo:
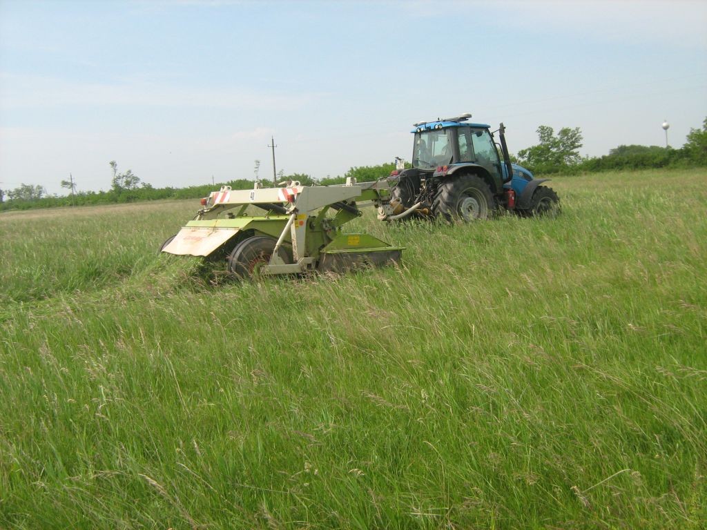
[[[234,190],[221,187],[201,199],[194,220],[164,242],[161,252],[225,259],[243,278],[307,271],[341,272],[398,262],[402,247],[376,237],[344,232],[361,216],[359,204],[373,204],[380,220],[392,220],[385,180],[337,186]],[[254,206],[255,208],[251,208]],[[256,210],[255,213],[253,210]]]

